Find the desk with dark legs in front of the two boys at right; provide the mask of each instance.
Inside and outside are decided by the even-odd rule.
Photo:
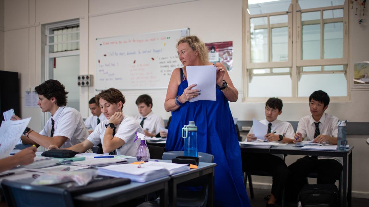
[[[324,151],[324,150],[302,150],[301,147],[293,147],[294,144],[285,146],[273,146],[271,148],[261,148],[256,146],[240,146],[241,152],[247,153],[270,153],[270,154],[289,154],[289,155],[313,155],[327,157],[342,157],[342,207],[351,207],[351,191],[352,191],[352,149],[350,146],[346,151]],[[347,194],[345,193],[347,192]]]

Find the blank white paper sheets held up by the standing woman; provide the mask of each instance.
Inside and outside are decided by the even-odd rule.
[[[200,89],[200,95],[190,99],[194,101],[217,100],[217,67],[215,66],[186,66],[188,85],[197,84],[192,88]]]

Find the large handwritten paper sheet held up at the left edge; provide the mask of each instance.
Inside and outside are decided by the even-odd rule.
[[[0,159],[8,157],[31,118],[2,122],[0,127]]]

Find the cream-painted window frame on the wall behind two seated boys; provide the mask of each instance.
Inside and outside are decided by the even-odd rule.
[[[345,97],[330,97],[332,102],[347,102],[350,100],[350,78],[348,73],[348,0],[345,0],[344,4],[339,6],[330,6],[330,7],[320,7],[320,8],[309,8],[301,10],[298,4],[298,0],[291,0],[291,4],[287,11],[283,12],[275,12],[275,13],[266,13],[266,14],[255,14],[250,15],[247,11],[248,9],[248,0],[244,0],[245,6],[245,18],[244,18],[244,58],[246,60],[246,65],[244,66],[244,98],[243,102],[265,102],[268,98],[254,98],[248,97],[248,85],[252,80],[253,76],[278,76],[278,75],[290,75],[292,80],[292,96],[291,97],[280,97],[283,98],[284,101],[288,102],[306,102],[306,97],[298,96],[298,86],[301,76],[303,74],[334,74],[334,73],[343,73],[347,80],[347,95]],[[334,9],[343,9],[343,17],[341,18],[332,18],[332,19],[323,19],[323,11],[325,10],[334,10]],[[320,11],[321,18],[317,20],[320,22],[321,26],[321,35],[320,35],[320,50],[321,50],[321,59],[313,59],[313,60],[301,60],[302,48],[301,48],[301,13],[310,12],[310,11]],[[288,14],[288,61],[287,62],[270,62],[272,48],[271,45],[271,28],[269,28],[269,16],[273,15],[281,15]],[[250,34],[250,19],[256,17],[268,17],[268,61],[265,63],[251,63],[251,34]],[[293,24],[292,24],[293,22]],[[342,58],[337,59],[323,59],[324,58],[324,24],[325,23],[333,23],[333,22],[343,22],[343,56]],[[296,43],[296,44],[292,44]],[[337,71],[324,71],[324,66],[332,66],[332,65],[343,65],[343,70]],[[321,66],[320,71],[302,71],[303,67],[307,66]],[[290,73],[272,73],[272,68],[281,68],[281,67],[290,67]],[[254,74],[254,69],[266,69],[270,68],[270,73],[265,74]]]

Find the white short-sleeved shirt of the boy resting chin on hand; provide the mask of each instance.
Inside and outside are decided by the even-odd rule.
[[[87,137],[92,144],[98,145],[104,143],[104,135],[106,126],[109,120],[104,120],[100,122],[95,128],[95,130]],[[117,155],[128,155],[132,157],[136,157],[137,148],[140,145],[141,139],[138,138],[135,142],[136,134],[135,132],[144,133],[144,130],[139,125],[137,120],[134,119],[132,116],[124,115],[123,120],[120,124],[115,125],[115,135],[114,137],[118,137],[125,142],[121,148],[117,149]]]

